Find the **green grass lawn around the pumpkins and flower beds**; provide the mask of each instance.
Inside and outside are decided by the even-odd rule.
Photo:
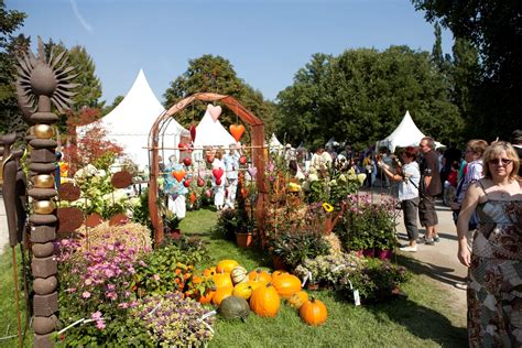
[[[199,236],[207,243],[213,264],[221,259],[236,259],[247,269],[270,267],[270,258],[241,250],[235,243],[213,239],[209,230],[216,213],[202,209],[188,211],[181,222],[183,233]],[[415,265],[413,259],[401,263]],[[218,318],[216,335],[209,347],[465,347],[467,346],[465,314],[446,304],[446,294],[435,281],[413,274],[403,286],[407,298],[387,304],[356,307],[329,291],[312,292],[325,302],[328,320],[320,327],[303,324],[295,311],[282,304],[275,318],[251,314],[247,323]],[[11,250],[0,258],[0,337],[17,333],[13,298]],[[210,308],[209,308],[210,309]],[[32,346],[28,331],[24,346]],[[15,339],[0,340],[0,347],[14,347]]]

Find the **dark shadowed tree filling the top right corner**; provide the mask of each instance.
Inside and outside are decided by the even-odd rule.
[[[509,139],[521,127],[522,2],[518,0],[412,0],[425,18],[441,23],[479,52],[481,76],[469,137]]]

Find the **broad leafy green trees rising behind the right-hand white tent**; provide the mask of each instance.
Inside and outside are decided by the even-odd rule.
[[[324,144],[329,138],[359,145],[387,137],[410,110],[417,127],[446,142],[463,128],[450,86],[427,52],[392,46],[315,54],[278,96],[280,137]]]

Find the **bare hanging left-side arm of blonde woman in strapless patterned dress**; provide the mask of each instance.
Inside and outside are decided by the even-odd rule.
[[[471,254],[468,249],[468,241],[466,237],[468,233],[469,219],[471,218],[471,215],[477,208],[481,193],[482,191],[479,188],[477,183],[469,186],[468,191],[466,192],[463,205],[460,207],[460,213],[458,215],[458,260],[465,267],[469,267],[471,264]]]

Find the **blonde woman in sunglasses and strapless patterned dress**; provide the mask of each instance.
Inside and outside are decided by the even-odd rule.
[[[507,142],[483,153],[485,177],[472,184],[457,221],[458,259],[468,267],[470,347],[522,347],[522,188],[520,162]],[[467,248],[474,210],[479,228]]]

